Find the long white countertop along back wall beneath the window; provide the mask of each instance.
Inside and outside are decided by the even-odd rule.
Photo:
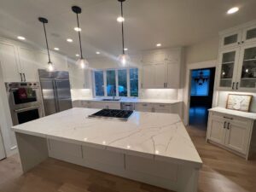
[[[173,104],[173,103],[181,102],[179,100],[139,99],[139,98],[121,98],[119,101],[102,101],[102,98],[73,98],[72,101],[88,101],[88,102],[150,102],[150,103],[166,103],[166,104]]]

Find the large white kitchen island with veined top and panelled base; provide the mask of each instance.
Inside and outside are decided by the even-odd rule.
[[[14,126],[23,172],[51,157],[166,189],[197,191],[202,161],[177,114],[88,118],[97,111],[72,108]]]

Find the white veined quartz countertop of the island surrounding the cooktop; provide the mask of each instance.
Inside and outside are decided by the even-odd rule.
[[[13,131],[124,154],[195,166],[202,161],[177,114],[134,112],[128,121],[90,119],[99,109],[72,108],[15,125]]]

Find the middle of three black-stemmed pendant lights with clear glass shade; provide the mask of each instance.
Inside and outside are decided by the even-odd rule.
[[[77,64],[81,67],[81,68],[85,68],[89,66],[88,61],[86,61],[83,57],[83,51],[82,51],[82,44],[81,44],[81,34],[80,34],[80,26],[79,26],[79,14],[82,13],[82,9],[79,8],[78,6],[73,6],[72,7],[73,12],[77,15],[77,21],[78,21],[78,32],[79,32],[79,45],[80,45],[80,58],[77,61]]]

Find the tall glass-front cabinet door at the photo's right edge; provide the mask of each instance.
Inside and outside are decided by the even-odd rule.
[[[238,90],[256,90],[256,44],[241,47],[241,56],[237,71]]]

